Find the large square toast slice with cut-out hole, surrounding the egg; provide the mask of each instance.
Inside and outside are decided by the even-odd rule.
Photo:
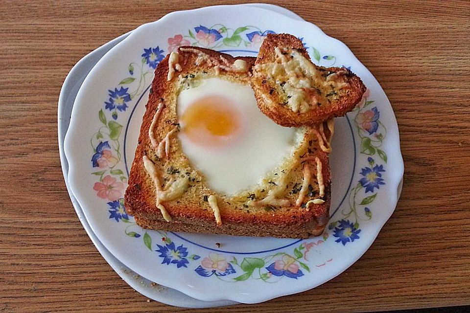
[[[332,120],[304,127],[298,149],[258,186],[235,196],[208,187],[182,152],[177,96],[191,79],[219,77],[250,84],[255,58],[180,47],[155,70],[142,118],[125,207],[144,228],[307,238],[329,220]]]

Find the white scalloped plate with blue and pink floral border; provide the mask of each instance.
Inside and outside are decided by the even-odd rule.
[[[122,197],[153,69],[179,45],[256,55],[270,32],[298,36],[314,62],[350,67],[368,87],[361,105],[336,122],[326,231],[297,240],[141,229]],[[395,209],[403,175],[390,103],[348,47],[308,22],[241,6],[168,14],[110,50],[77,94],[65,152],[71,189],[100,242],[140,275],[205,301],[256,303],[335,277],[373,243]]]

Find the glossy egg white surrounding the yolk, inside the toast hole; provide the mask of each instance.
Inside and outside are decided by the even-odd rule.
[[[185,134],[182,115],[202,97],[229,99],[240,112],[241,132],[230,144],[207,146],[196,144]],[[182,132],[178,134],[183,153],[205,178],[208,186],[226,196],[249,190],[291,158],[300,144],[303,129],[279,126],[258,109],[249,85],[221,78],[198,78],[194,87],[184,89],[177,98],[177,116]]]

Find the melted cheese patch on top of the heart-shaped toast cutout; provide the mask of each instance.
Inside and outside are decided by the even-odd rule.
[[[293,112],[305,113],[328,102],[325,94],[349,86],[340,81],[338,73],[331,73],[323,79],[323,71],[295,49],[274,49],[275,62],[255,66],[255,72],[266,75],[281,85],[287,96],[286,106]]]

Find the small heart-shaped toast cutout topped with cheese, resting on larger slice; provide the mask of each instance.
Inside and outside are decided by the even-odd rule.
[[[366,87],[345,67],[318,67],[302,42],[289,34],[268,34],[253,70],[259,109],[279,125],[299,127],[351,111]]]

